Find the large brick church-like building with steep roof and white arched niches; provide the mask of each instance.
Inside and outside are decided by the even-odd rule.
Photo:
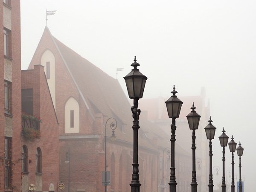
[[[64,191],[104,191],[105,123],[117,121],[116,141],[107,125],[107,165],[111,191],[130,191],[132,174],[132,114],[119,82],[54,38],[46,27],[29,69],[44,66],[59,122],[60,178]],[[140,118],[139,164],[141,191],[157,191],[160,153],[157,142],[168,136]],[[161,138],[157,139],[157,138]],[[164,139],[163,139],[164,138]],[[69,151],[69,154],[68,154]],[[69,164],[65,160],[69,157]],[[70,177],[70,183],[68,178]]]

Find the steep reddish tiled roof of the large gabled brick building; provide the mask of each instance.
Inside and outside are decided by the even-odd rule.
[[[44,35],[50,36],[58,54],[67,67],[67,71],[70,73],[84,99],[87,109],[89,112],[92,111],[90,113],[91,116],[94,116],[95,113],[102,113],[105,117],[114,117],[119,123],[119,126],[115,130],[117,140],[132,144],[133,132],[131,126],[133,119],[131,105],[119,82],[58,41],[58,39],[51,35],[47,27],[39,44],[42,43],[47,46],[46,42],[42,42],[44,41]],[[36,51],[39,50],[37,49]],[[29,67],[32,67],[31,65],[32,63]],[[155,137],[158,138],[158,145],[169,145],[169,136],[158,128],[157,125],[141,118],[140,127],[140,146],[158,151],[158,146],[154,145],[153,142]],[[111,135],[110,129],[108,129],[108,135]]]

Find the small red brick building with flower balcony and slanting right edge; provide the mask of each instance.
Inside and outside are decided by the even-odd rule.
[[[21,191],[58,191],[58,120],[44,67],[21,72]]]

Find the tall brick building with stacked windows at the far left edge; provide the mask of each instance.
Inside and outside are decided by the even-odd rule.
[[[0,191],[20,191],[20,1],[0,10]]]

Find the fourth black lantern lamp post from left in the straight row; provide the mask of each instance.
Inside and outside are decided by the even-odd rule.
[[[212,125],[212,119],[208,121],[209,124],[204,128],[207,140],[209,140],[209,158],[210,158],[210,169],[209,169],[209,192],[213,192],[213,180],[212,180],[212,140],[214,139],[216,128]]]

